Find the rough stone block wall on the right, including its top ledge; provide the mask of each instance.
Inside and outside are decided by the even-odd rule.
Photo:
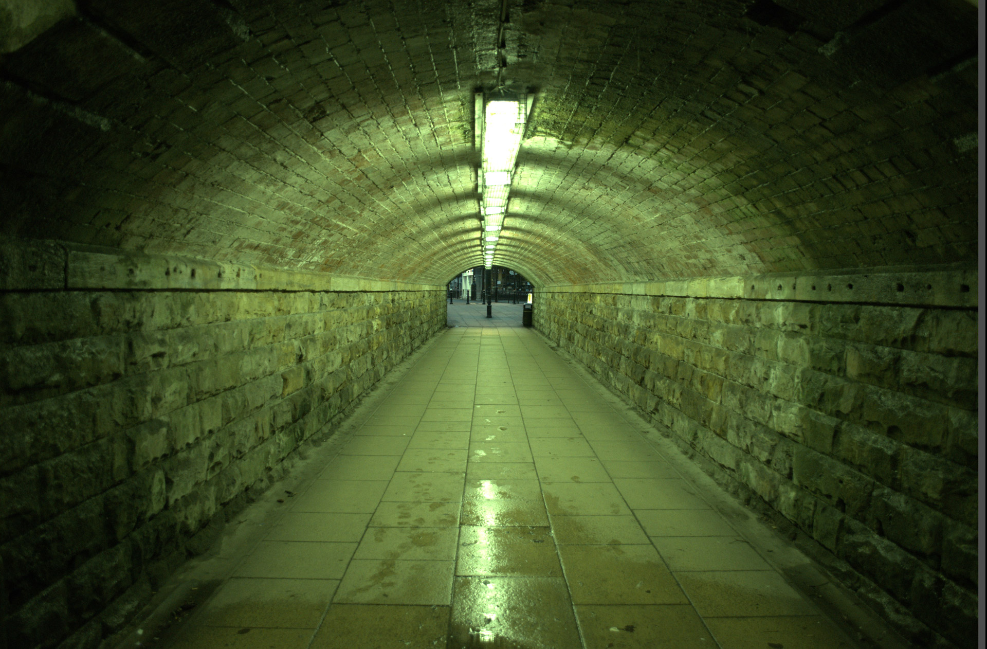
[[[721,484],[835,555],[911,641],[966,648],[976,281],[952,270],[547,286],[534,322]]]

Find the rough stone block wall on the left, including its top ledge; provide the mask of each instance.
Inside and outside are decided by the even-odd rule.
[[[0,287],[11,647],[98,646],[446,319],[441,286],[53,243],[0,245]]]

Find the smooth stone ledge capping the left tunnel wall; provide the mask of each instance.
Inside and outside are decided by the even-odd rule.
[[[60,241],[0,241],[0,290],[445,290],[328,273],[145,255]]]

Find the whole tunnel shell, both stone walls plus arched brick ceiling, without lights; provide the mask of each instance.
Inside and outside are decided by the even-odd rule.
[[[977,5],[0,4],[0,646],[100,646],[445,327],[500,95],[536,329],[976,646]]]

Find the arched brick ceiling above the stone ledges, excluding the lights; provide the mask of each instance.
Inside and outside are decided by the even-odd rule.
[[[499,48],[495,0],[57,4],[0,61],[7,233],[445,283],[499,78],[539,284],[976,259],[964,0],[508,0]]]

